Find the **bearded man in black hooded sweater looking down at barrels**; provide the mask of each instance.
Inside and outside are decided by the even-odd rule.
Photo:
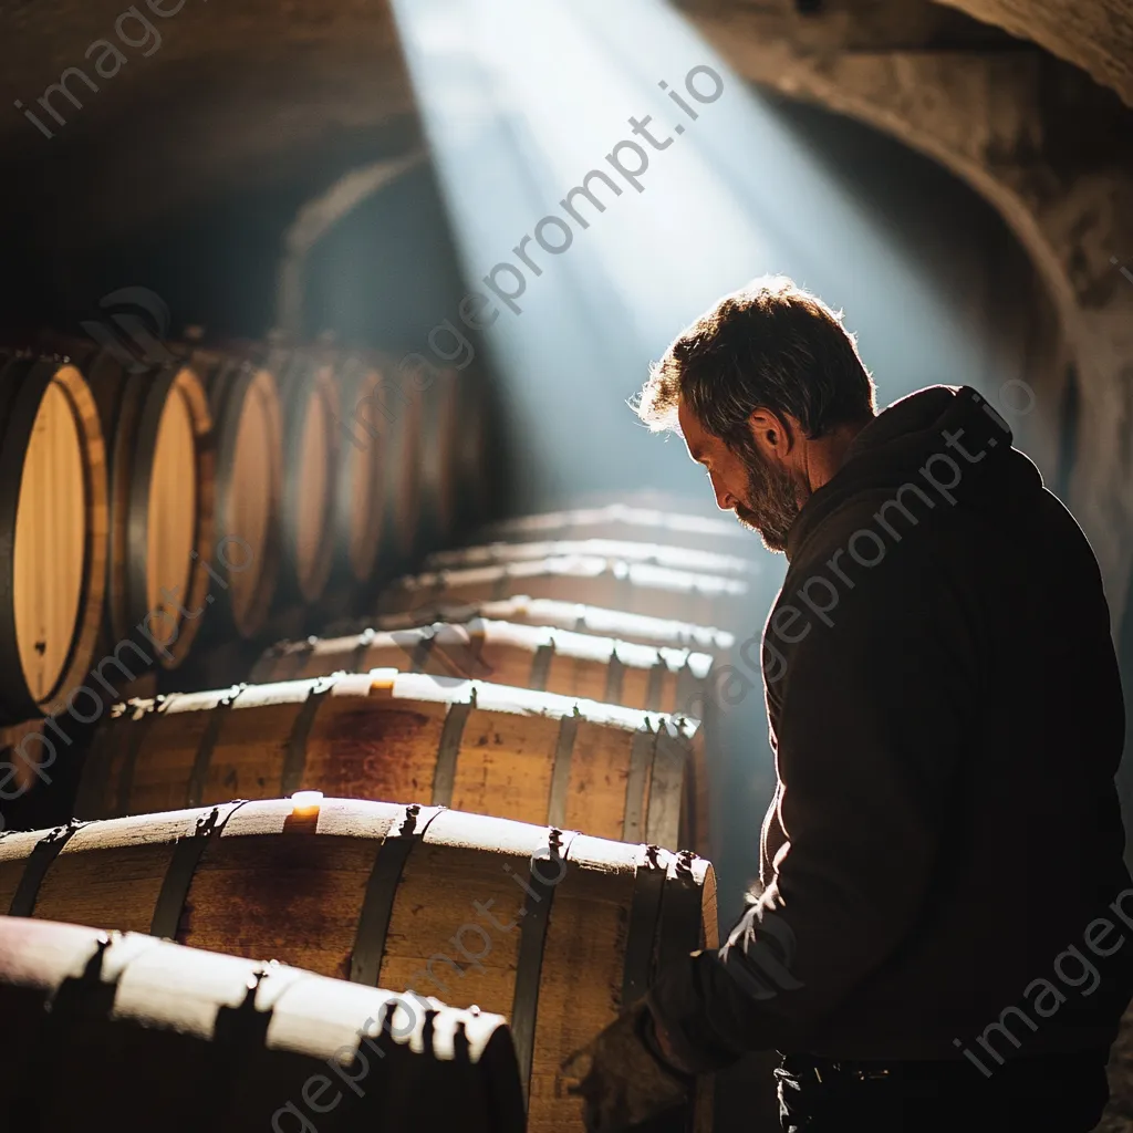
[[[787,1131],[1092,1130],[1133,888],[1082,531],[974,390],[876,415],[841,315],[783,278],[681,334],[638,414],[786,554],[763,639],[778,783],[725,947],[576,1062],[590,1127],[774,1049]]]

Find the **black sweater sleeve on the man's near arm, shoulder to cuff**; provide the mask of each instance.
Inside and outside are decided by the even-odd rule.
[[[663,973],[653,991],[658,1025],[700,1070],[746,1050],[804,1049],[915,930],[978,659],[929,556],[904,546],[888,557],[847,571],[853,586],[836,603],[824,590],[812,603],[829,607],[823,617],[802,597],[812,574],[784,586],[776,614],[800,614],[768,622],[768,634],[785,625],[792,639],[776,642],[785,664],[767,674],[783,842],[725,946]]]

